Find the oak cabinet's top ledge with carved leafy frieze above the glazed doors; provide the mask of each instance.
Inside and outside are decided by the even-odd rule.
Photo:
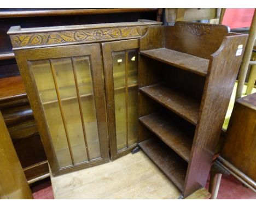
[[[138,20],[137,22],[103,23],[80,26],[21,28],[8,31],[13,50],[92,42],[141,38],[148,27],[160,26],[162,22]]]

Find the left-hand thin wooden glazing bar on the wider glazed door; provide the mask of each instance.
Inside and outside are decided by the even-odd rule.
[[[65,121],[63,107],[62,107],[61,98],[60,98],[60,90],[59,90],[59,87],[58,87],[58,84],[57,84],[55,70],[54,70],[53,63],[52,63],[51,59],[50,59],[50,66],[51,66],[51,74],[53,74],[53,79],[54,79],[54,85],[55,85],[55,89],[56,89],[57,99],[58,99],[58,102],[59,102],[61,118],[62,118],[62,121],[63,121],[64,129],[65,129],[65,133],[66,133],[66,137],[67,137],[69,154],[71,156],[72,164],[74,165],[75,164],[74,163],[74,156],[73,156],[73,152],[72,152],[72,149],[71,149],[71,144],[70,144],[70,140],[69,140],[69,136],[68,136],[67,124],[66,124],[66,121]]]

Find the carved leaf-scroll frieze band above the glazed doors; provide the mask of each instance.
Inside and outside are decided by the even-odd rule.
[[[65,32],[11,35],[14,47],[66,44],[72,42],[93,42],[115,39],[139,38],[146,34],[147,27],[86,29]]]

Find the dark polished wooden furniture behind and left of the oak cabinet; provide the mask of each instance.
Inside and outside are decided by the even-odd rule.
[[[0,109],[28,182],[49,176],[48,162],[11,49],[8,29],[16,25],[27,28],[155,20],[157,12],[158,9],[0,9]]]

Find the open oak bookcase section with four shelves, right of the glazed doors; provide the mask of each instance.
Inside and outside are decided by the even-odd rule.
[[[139,52],[139,146],[187,197],[206,184],[247,36],[189,22],[150,29]]]

